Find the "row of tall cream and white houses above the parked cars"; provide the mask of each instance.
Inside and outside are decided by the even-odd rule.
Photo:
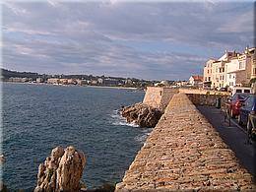
[[[248,86],[256,78],[256,64],[252,65],[254,50],[246,47],[243,53],[225,51],[218,60],[208,60],[204,67],[204,88]]]

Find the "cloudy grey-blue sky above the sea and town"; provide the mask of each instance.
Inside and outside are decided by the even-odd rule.
[[[187,80],[253,46],[253,1],[3,1],[10,70]]]

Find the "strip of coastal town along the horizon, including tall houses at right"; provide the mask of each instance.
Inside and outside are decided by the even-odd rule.
[[[234,87],[251,87],[256,81],[255,47],[246,46],[242,52],[226,50],[222,57],[202,64],[202,74],[191,74],[184,81],[150,81],[136,78],[118,78],[93,75],[46,75],[2,69],[1,80],[13,83],[104,86],[145,89],[149,86],[191,88],[231,92]]]

